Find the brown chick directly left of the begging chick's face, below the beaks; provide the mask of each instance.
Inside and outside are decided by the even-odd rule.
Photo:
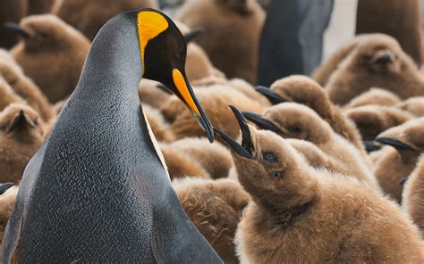
[[[169,145],[179,152],[189,154],[212,178],[227,177],[233,167],[231,153],[219,142],[210,144],[207,138],[185,137]]]

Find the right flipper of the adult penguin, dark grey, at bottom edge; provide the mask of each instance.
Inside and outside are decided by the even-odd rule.
[[[154,208],[152,251],[157,263],[224,263],[182,209],[172,186]]]

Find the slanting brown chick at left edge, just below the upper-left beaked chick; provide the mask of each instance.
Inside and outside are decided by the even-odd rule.
[[[30,107],[38,111],[44,121],[55,119],[55,111],[48,102],[46,95],[41,92],[30,78],[25,76],[10,54],[0,55],[0,73],[13,88],[13,91],[20,95]]]

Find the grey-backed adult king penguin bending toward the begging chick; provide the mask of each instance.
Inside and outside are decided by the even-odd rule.
[[[221,262],[182,210],[137,94],[140,78],[160,81],[212,141],[185,57],[181,32],[156,10],[124,12],[100,29],[75,91],[25,169],[4,262]]]

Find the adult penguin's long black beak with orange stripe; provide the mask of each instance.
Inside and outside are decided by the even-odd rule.
[[[214,142],[214,130],[208,120],[208,116],[201,108],[193,89],[185,75],[182,74],[182,71],[178,69],[173,70],[173,82],[174,86],[170,87],[170,90],[189,107],[193,116],[198,120],[200,127],[203,128],[208,136],[209,142]]]

